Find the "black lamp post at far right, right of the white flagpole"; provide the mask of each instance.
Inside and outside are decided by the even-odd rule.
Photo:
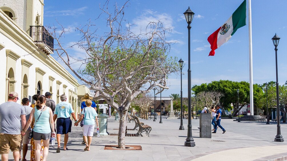
[[[278,67],[277,67],[277,46],[279,43],[279,39],[280,37],[278,35],[274,35],[274,37],[272,38],[273,40],[273,44],[275,46],[275,57],[276,57],[276,103],[277,103],[277,108],[276,108],[276,112],[277,112],[277,135],[274,139],[274,141],[276,142],[284,142],[284,139],[281,135],[281,130],[280,130],[280,111],[279,111],[279,84],[278,84]]]

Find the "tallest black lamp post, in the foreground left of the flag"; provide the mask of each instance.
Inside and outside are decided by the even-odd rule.
[[[192,125],[191,125],[191,69],[190,69],[190,29],[191,29],[191,21],[193,19],[193,11],[188,7],[188,9],[183,13],[185,15],[185,19],[187,21],[187,29],[188,29],[188,124],[187,124],[187,138],[185,139],[184,146],[195,146],[194,139],[192,138]]]

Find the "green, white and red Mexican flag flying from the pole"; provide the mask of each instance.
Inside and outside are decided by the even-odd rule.
[[[235,10],[232,16],[208,37],[211,51],[208,56],[214,56],[215,49],[226,43],[237,29],[246,25],[246,0]]]

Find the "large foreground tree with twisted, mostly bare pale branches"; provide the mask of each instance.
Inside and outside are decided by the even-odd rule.
[[[133,32],[123,19],[126,7],[127,2],[122,7],[115,4],[110,13],[107,1],[100,8],[109,28],[102,36],[88,23],[77,28],[82,38],[67,47],[61,43],[66,32],[64,27],[60,34],[58,29],[52,31],[56,41],[54,51],[59,58],[83,84],[96,91],[94,99],[103,98],[119,113],[119,148],[125,148],[126,117],[133,100],[153,88],[168,89],[166,79],[179,71],[177,59],[167,55],[170,43],[166,42],[165,35],[170,28],[164,28],[159,20],[150,22],[144,31]],[[79,47],[85,54],[81,58],[73,57],[68,53],[72,47]],[[74,69],[74,62],[82,63],[83,69]]]

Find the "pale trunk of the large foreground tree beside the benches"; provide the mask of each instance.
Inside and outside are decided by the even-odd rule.
[[[119,126],[119,137],[118,137],[118,147],[125,149],[125,130],[127,126],[127,113],[119,113],[120,115],[120,126]]]

